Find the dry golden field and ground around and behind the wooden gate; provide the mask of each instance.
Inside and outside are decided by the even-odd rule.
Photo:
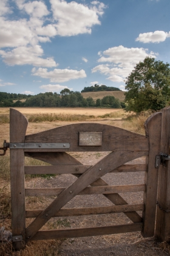
[[[59,115],[69,116],[70,121],[36,121],[29,122],[27,128],[27,134],[41,132],[42,130],[52,129],[58,126],[66,124],[72,124],[79,122],[75,120],[76,116],[85,115],[85,122],[109,124],[112,126],[121,127],[133,132],[144,134],[143,123],[150,113],[143,113],[142,115],[135,116],[133,114],[124,112],[124,110],[114,110],[111,108],[98,109],[98,108],[17,108],[20,112],[24,113],[27,118],[31,116],[47,116]],[[41,114],[39,114],[41,113]],[[9,115],[9,108],[0,108],[0,116]],[[89,119],[89,116],[93,116]],[[83,122],[84,122],[83,121]],[[4,140],[9,141],[9,123],[0,123],[0,142],[1,145]],[[101,158],[103,158],[107,152],[72,152],[70,153],[73,157],[77,158],[84,165],[94,165]],[[138,160],[140,163],[144,163],[144,158]],[[33,158],[25,157],[25,165],[45,165],[44,162],[34,160]],[[140,183],[144,179],[143,173],[140,175],[134,175],[133,172],[129,172],[128,176],[124,174],[116,174],[113,176],[108,174],[104,180],[110,185],[123,185],[124,183]],[[64,183],[67,187],[75,180],[70,174],[63,174],[58,176],[26,176],[25,186],[26,187],[58,187]],[[5,157],[0,157],[0,227],[4,226],[5,229],[11,229],[10,222],[10,169],[9,169],[9,151]],[[62,187],[59,186],[59,187]],[[133,193],[134,194],[134,193]],[[143,198],[142,193],[135,193],[129,198],[135,203],[141,202]],[[100,195],[99,195],[100,196]],[[124,195],[125,198],[127,195]],[[53,197],[26,197],[26,207],[29,209],[38,209],[46,207],[52,202]],[[79,196],[73,199],[66,205],[67,208],[75,207],[96,207],[109,205],[103,196]],[[27,224],[31,219],[27,219]],[[104,226],[111,224],[121,224],[129,221],[125,218],[122,213],[110,214],[110,215],[94,215],[94,216],[73,216],[64,218],[52,218],[43,229],[65,229],[69,227],[91,227],[91,226]],[[163,251],[164,249],[164,251]],[[35,253],[36,252],[36,253]],[[47,240],[47,241],[33,241],[28,244],[26,249],[21,252],[12,252],[10,244],[0,243],[0,256],[98,256],[98,255],[151,255],[151,256],[163,256],[168,255],[168,246],[166,243],[157,243],[153,238],[142,238],[140,232],[124,233],[118,235],[104,235],[86,238],[73,238],[66,240]]]

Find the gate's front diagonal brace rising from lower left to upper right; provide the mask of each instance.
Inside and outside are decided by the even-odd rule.
[[[74,196],[80,191],[89,186],[92,182],[99,179],[101,176],[111,171],[112,169],[118,168],[135,158],[141,157],[148,154],[148,151],[138,152],[112,152],[104,157],[96,165],[89,168],[84,172],[75,182],[72,183],[66,190],[47,207],[38,217],[27,227],[26,236],[32,238],[39,229],[41,229],[52,216],[58,212],[64,205],[67,204]],[[28,239],[29,239],[28,238]]]

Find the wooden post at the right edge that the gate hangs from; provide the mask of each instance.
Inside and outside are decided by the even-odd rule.
[[[160,152],[169,155],[170,107],[163,108],[161,121]],[[170,162],[158,170],[157,219],[155,236],[158,240],[170,240]]]

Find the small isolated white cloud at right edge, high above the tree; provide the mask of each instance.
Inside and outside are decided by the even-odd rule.
[[[142,43],[160,43],[165,41],[167,37],[170,37],[170,32],[167,33],[157,30],[155,32],[139,34],[136,41],[140,41]]]

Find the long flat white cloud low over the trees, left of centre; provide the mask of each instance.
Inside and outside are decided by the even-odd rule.
[[[80,71],[73,69],[53,69],[52,71],[47,71],[47,68],[33,68],[33,76],[40,76],[42,78],[50,79],[50,82],[67,82],[72,79],[78,79],[86,77],[86,73],[83,69]]]

